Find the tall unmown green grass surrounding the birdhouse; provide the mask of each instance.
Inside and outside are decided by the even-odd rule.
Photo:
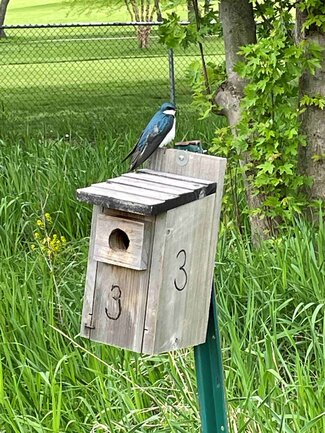
[[[198,127],[191,116],[184,107],[177,138],[209,143],[211,121]],[[91,209],[75,189],[126,168],[139,124],[109,110],[2,122],[0,432],[200,431],[191,350],[142,357],[78,336]],[[49,235],[68,241],[51,259],[33,235],[46,212]],[[324,255],[322,218],[259,249],[222,227],[216,285],[231,432],[325,431]]]

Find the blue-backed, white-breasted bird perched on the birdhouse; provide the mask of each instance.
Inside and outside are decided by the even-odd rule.
[[[123,159],[131,156],[129,171],[135,170],[146,161],[158,148],[166,146],[175,138],[176,108],[171,102],[165,102],[153,116],[145,130],[142,132],[134,149]],[[122,161],[122,162],[123,162]]]

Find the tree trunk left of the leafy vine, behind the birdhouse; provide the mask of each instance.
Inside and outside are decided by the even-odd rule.
[[[256,27],[249,0],[221,0],[219,12],[225,43],[227,81],[217,90],[215,103],[222,108],[233,134],[236,134],[236,124],[240,120],[240,101],[246,82],[236,74],[234,66],[242,60],[238,54],[240,47],[256,43]],[[242,155],[242,165],[249,161],[248,153]],[[264,198],[253,194],[253,188],[245,177],[244,182],[249,209],[260,207]],[[270,230],[268,220],[251,215],[250,222],[252,240],[258,244]]]

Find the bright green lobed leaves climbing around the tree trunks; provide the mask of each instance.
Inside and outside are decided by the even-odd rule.
[[[311,179],[300,175],[297,167],[298,149],[306,145],[300,133],[300,115],[310,105],[322,109],[324,98],[304,96],[298,102],[298,83],[304,72],[314,74],[320,67],[322,52],[315,43],[294,44],[291,13],[297,6],[294,0],[252,3],[259,22],[259,38],[255,45],[242,48],[244,61],[236,68],[248,83],[241,104],[241,121],[235,135],[229,128],[217,130],[211,150],[228,158],[230,179],[226,183],[225,207],[228,215],[232,215],[229,221],[240,227],[243,224],[239,208],[243,205],[245,186],[239,177],[245,173],[253,194],[261,199],[261,205],[249,211],[267,218],[273,231],[279,222],[292,221],[307,204],[302,190]],[[305,3],[303,9],[308,13],[319,6],[316,0]],[[206,27],[209,22],[205,20]],[[200,29],[200,23],[197,28]],[[195,27],[190,34],[180,29],[176,15],[165,20],[162,40],[170,46],[181,44],[184,48],[203,41],[198,32],[195,35]],[[218,112],[218,107],[214,107],[214,93],[226,81],[224,67],[207,62],[204,74],[202,64],[194,62],[188,77],[193,105],[201,118]],[[211,94],[207,92],[206,77]],[[233,188],[236,188],[235,193]]]

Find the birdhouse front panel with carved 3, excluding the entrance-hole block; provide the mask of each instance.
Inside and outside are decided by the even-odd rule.
[[[151,261],[152,217],[121,213],[94,207],[89,248],[81,335],[105,344],[141,352],[149,270],[133,270],[102,263],[94,259],[98,239],[98,218],[118,219],[129,224],[142,224],[145,230],[145,255]],[[85,327],[85,322],[87,327]]]

